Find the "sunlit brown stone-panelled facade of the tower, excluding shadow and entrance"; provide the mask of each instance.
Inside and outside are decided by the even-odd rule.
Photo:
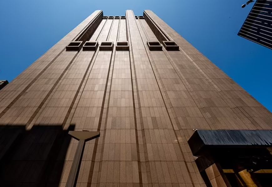
[[[267,109],[150,10],[179,51],[150,51],[146,42],[158,33],[131,10],[126,19],[101,19],[89,39],[128,41],[129,51],[65,51],[99,13],[0,91],[1,125],[100,131],[85,145],[77,186],[205,186],[187,144],[192,129],[271,129]],[[60,186],[77,144],[60,160]],[[223,186],[215,171],[211,183]]]

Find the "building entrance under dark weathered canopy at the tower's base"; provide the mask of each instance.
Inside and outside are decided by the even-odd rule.
[[[188,140],[207,186],[272,186],[270,130],[198,130]]]

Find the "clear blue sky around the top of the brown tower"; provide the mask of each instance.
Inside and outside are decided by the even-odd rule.
[[[154,11],[272,111],[272,50],[237,35],[246,0],[1,0],[0,79],[11,82],[95,10]]]

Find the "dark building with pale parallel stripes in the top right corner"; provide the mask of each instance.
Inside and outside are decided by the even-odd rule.
[[[256,0],[238,35],[272,49],[271,0]]]

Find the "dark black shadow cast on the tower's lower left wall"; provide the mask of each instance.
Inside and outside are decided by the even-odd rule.
[[[59,186],[69,130],[74,125],[0,126],[0,186]]]

